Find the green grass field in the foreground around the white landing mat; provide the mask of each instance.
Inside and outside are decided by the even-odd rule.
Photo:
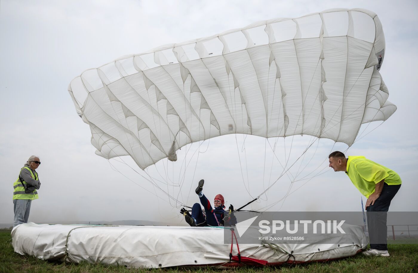
[[[265,268],[237,268],[220,270],[216,268],[163,268],[163,269],[129,269],[124,266],[111,266],[89,263],[53,263],[39,260],[35,257],[22,256],[13,251],[10,231],[0,231],[0,273],[33,272],[33,273],[101,273],[101,272],[228,272],[228,273],[258,273],[258,272],[367,272],[367,273],[393,273],[418,272],[418,244],[388,245],[390,257],[355,256],[326,263],[309,263],[304,265],[283,265],[280,267]]]

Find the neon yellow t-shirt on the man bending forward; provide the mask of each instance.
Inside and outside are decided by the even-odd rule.
[[[369,198],[376,184],[385,179],[387,185],[400,185],[402,180],[393,170],[365,157],[348,157],[347,175],[362,195]]]

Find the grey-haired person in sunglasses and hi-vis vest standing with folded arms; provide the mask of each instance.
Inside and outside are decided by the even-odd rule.
[[[39,157],[34,155],[29,157],[26,164],[20,169],[18,179],[13,183],[13,188],[15,189],[13,192],[13,208],[15,212],[13,228],[28,222],[31,202],[38,199],[36,190],[39,190],[39,187],[41,187],[41,182],[36,169],[40,164]]]

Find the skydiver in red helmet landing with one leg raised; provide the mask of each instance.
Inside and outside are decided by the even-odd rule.
[[[214,198],[214,208],[212,208],[209,200],[202,192],[203,184],[204,180],[201,179],[196,188],[196,194],[199,196],[200,203],[204,207],[204,212],[199,203],[193,205],[191,214],[183,207],[180,213],[184,215],[186,222],[192,227],[235,225],[237,220],[234,216],[234,207],[230,205],[229,211],[225,211],[224,197],[218,194]]]

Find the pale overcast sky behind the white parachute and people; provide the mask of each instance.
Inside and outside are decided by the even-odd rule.
[[[329,8],[365,8],[377,13],[382,22],[386,49],[380,73],[389,89],[388,100],[398,110],[380,126],[377,122],[367,127],[367,131],[376,129],[355,142],[347,155],[364,155],[398,172],[403,185],[390,210],[416,211],[416,1],[1,0],[0,224],[13,222],[13,182],[32,154],[42,162],[37,169],[42,185],[39,200],[32,202],[31,222],[153,220],[183,225],[178,216],[180,205],[153,187],[144,178],[148,174],[167,180],[169,185],[155,183],[189,206],[198,201],[194,188],[202,178],[209,200],[222,193],[227,204],[235,207],[249,202],[281,172],[271,149],[265,149],[269,145],[265,139],[249,136],[245,145],[242,135],[211,139],[191,158],[199,149],[199,144],[193,144],[179,152],[176,164],[160,162],[158,172],[150,167],[148,174],[124,158],[138,174],[125,164],[94,154],[89,126],[77,116],[67,87],[84,70],[126,54],[242,28],[259,20],[295,18]],[[290,163],[310,140],[309,136],[294,139]],[[285,143],[278,140],[276,154],[283,151],[279,155],[282,162],[284,147],[290,147],[291,141],[290,137]],[[274,140],[270,144],[273,146]],[[361,195],[347,175],[325,172],[329,152],[345,151],[347,145],[333,146],[334,142],[326,139],[316,144],[312,159],[307,154],[289,177],[283,176],[248,209],[262,209],[296,190],[269,210],[361,210]],[[192,161],[183,176],[187,149],[186,161]],[[288,152],[289,148],[286,156]],[[323,174],[291,183],[292,175],[301,178],[315,169],[315,174]]]

